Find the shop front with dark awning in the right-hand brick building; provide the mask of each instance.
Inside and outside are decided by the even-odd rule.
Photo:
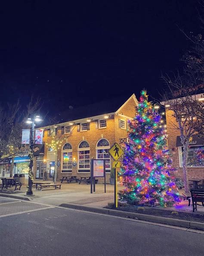
[[[189,140],[187,167],[204,167],[204,140],[197,135],[192,135]],[[179,167],[183,163],[183,147],[180,136],[176,138],[176,147],[179,153]]]

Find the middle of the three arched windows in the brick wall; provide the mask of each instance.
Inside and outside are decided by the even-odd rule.
[[[90,173],[90,146],[82,141],[78,147],[78,173]]]

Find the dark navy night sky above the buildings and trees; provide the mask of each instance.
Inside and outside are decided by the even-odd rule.
[[[1,104],[40,96],[59,113],[146,88],[175,70],[198,32],[196,0],[4,1],[0,6]]]

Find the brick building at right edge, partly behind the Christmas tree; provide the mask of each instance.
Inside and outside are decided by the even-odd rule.
[[[173,168],[176,168],[176,177],[183,179],[182,172],[182,151],[180,142],[180,133],[175,128],[176,118],[173,117],[173,111],[169,106],[166,108],[168,147],[173,160]],[[188,178],[204,179],[204,159],[198,159],[198,153],[204,152],[204,141],[195,134],[192,135],[189,142],[189,157],[187,161]],[[200,155],[201,155],[200,154]]]

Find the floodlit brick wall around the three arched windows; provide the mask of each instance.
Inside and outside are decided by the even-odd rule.
[[[135,115],[135,102],[134,100],[129,100],[127,104],[122,109],[123,115],[130,115],[133,117]],[[90,144],[90,159],[96,158],[96,144],[101,138],[105,138],[109,141],[110,145],[114,144],[114,142],[120,142],[120,138],[127,137],[127,126],[126,129],[119,128],[119,119],[121,117],[119,115],[112,115],[108,119],[106,119],[107,127],[106,128],[96,128],[96,121],[93,120],[90,122],[90,130],[88,131],[77,131],[77,125],[72,126],[72,134],[63,134],[62,138],[64,141],[61,146],[59,146],[59,150],[57,151],[57,160],[61,162],[61,166],[57,167],[57,180],[62,178],[62,176],[90,176],[90,173],[78,173],[78,146],[81,141],[87,141]],[[127,118],[124,118],[127,122]],[[127,124],[126,124],[127,125]],[[99,126],[98,126],[99,127]],[[61,128],[59,129],[59,133],[61,134]],[[51,143],[52,138],[47,137],[47,131],[44,132],[43,141],[45,144],[45,156],[44,159],[47,159],[48,145]],[[72,166],[72,173],[62,173],[62,147],[68,142],[72,146],[72,158],[75,157],[77,161],[77,166]],[[112,159],[111,159],[112,166]],[[35,175],[36,164],[34,163],[34,175]],[[49,170],[49,162],[47,162],[47,170]],[[106,173],[106,182],[109,182],[110,174]],[[48,178],[52,180],[53,178]],[[99,181],[103,182],[103,178],[99,178]]]

